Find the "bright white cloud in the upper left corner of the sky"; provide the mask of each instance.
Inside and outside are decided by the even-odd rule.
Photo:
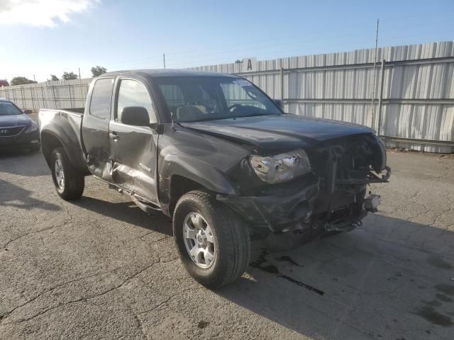
[[[0,25],[54,27],[74,13],[87,11],[99,0],[0,0]]]

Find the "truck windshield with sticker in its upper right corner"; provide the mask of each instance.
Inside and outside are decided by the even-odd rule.
[[[245,79],[162,77],[156,81],[175,122],[282,114],[270,98]]]

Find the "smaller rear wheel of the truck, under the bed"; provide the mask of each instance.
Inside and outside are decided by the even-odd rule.
[[[57,162],[60,166],[56,165]],[[64,176],[61,177],[61,173],[57,173],[57,168],[61,169]],[[85,186],[84,176],[74,169],[62,147],[53,150],[50,157],[50,171],[52,171],[52,180],[58,196],[64,200],[77,200],[82,196]]]

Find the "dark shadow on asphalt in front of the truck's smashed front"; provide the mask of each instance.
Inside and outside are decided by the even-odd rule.
[[[255,242],[248,274],[216,293],[314,339],[450,339],[454,259],[440,253],[451,249],[454,233],[378,215],[374,220],[366,229],[282,253]],[[421,233],[435,243],[419,248],[395,233]]]

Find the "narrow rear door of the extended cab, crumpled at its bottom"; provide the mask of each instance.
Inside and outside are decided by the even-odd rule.
[[[82,119],[82,140],[89,171],[106,181],[112,180],[109,120],[113,89],[113,78],[97,79],[89,92]]]

